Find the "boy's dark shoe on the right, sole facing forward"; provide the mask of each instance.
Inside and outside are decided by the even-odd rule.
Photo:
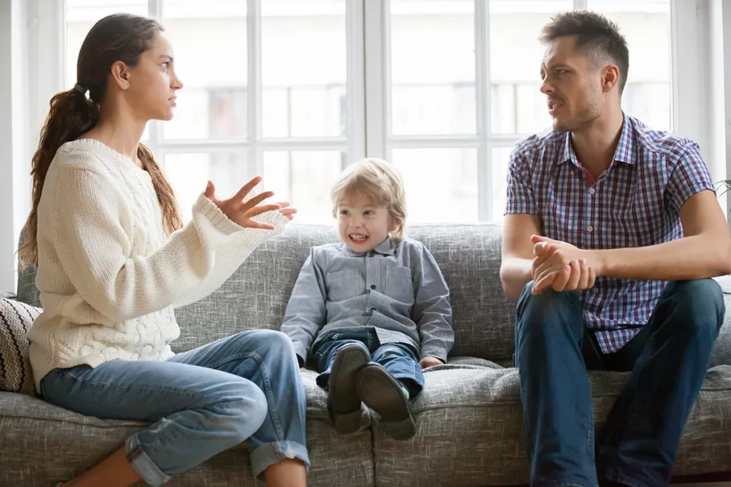
[[[379,364],[371,362],[358,372],[360,399],[381,416],[381,424],[394,440],[410,440],[416,423],[401,383]]]

